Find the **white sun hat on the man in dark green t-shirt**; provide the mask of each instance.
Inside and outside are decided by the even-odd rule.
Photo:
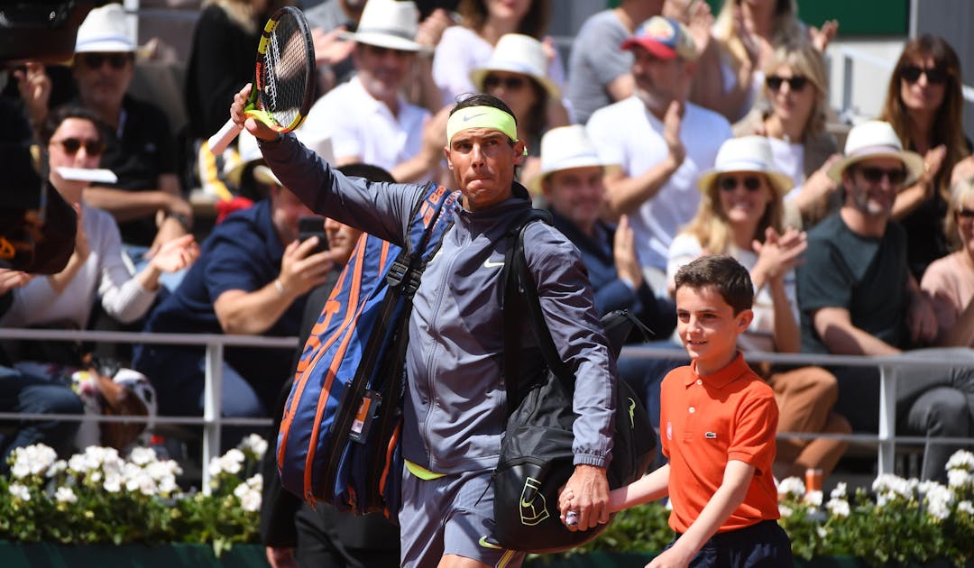
[[[878,120],[852,127],[845,138],[845,157],[829,168],[829,177],[842,183],[843,171],[856,162],[872,158],[895,158],[907,169],[903,186],[910,185],[923,173],[923,158],[916,152],[903,149],[893,126]]]

